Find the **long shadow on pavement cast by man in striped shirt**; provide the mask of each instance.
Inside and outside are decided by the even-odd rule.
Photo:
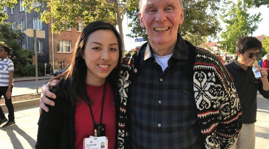
[[[11,127],[7,128],[0,128],[2,131],[6,131],[7,135],[10,137],[11,143],[13,145],[13,148],[23,148],[21,142],[19,139],[16,137],[16,134],[14,131],[16,131],[19,135],[24,137],[25,140],[29,143],[29,145],[32,148],[35,148],[36,140],[34,140],[32,137],[30,137],[28,134],[26,134],[21,128],[19,128],[17,125],[13,125]]]

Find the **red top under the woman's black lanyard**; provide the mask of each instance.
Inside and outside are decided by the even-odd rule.
[[[87,93],[91,99],[92,112],[94,120],[97,124],[100,123],[100,114],[102,108],[103,89],[101,86],[90,86],[86,84]],[[108,148],[115,149],[116,137],[116,111],[114,107],[114,96],[111,90],[110,83],[106,82],[106,94],[103,109],[102,123],[106,127],[106,136],[108,137]],[[76,149],[83,148],[83,138],[94,136],[94,127],[91,118],[90,108],[87,103],[76,103],[75,111],[75,147]]]

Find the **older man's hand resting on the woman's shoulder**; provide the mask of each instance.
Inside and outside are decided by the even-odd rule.
[[[50,92],[50,87],[56,86],[58,83],[58,80],[53,80],[52,82],[48,82],[46,85],[42,86],[41,91],[41,100],[39,104],[39,114],[42,114],[42,109],[46,112],[49,111],[48,107],[45,104],[54,106],[55,103],[52,100],[49,100],[48,97],[55,99],[56,95],[52,92]]]

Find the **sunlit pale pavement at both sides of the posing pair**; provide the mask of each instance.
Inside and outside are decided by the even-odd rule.
[[[269,146],[269,100],[258,96],[256,122],[256,149],[268,149]],[[7,117],[7,111],[4,111]],[[15,109],[16,125],[0,127],[0,149],[34,148],[37,136],[38,105]],[[2,124],[3,125],[3,124]]]

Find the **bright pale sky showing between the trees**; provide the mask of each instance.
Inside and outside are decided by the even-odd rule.
[[[262,21],[259,23],[259,28],[253,32],[252,36],[260,36],[260,35],[266,35],[269,36],[269,8],[266,6],[261,6],[259,8],[252,8],[249,10],[250,15],[254,15],[255,13],[261,13]],[[138,14],[137,14],[138,15]],[[124,45],[125,49],[129,51],[130,49],[135,48],[136,46],[140,46],[140,42],[135,42],[134,38],[129,38],[126,36],[126,34],[131,32],[131,28],[128,28],[128,23],[130,23],[131,20],[127,19],[126,16],[124,16],[123,19],[123,34],[124,34]],[[225,28],[225,24],[221,23],[221,27]],[[142,42],[143,44],[144,42]]]

